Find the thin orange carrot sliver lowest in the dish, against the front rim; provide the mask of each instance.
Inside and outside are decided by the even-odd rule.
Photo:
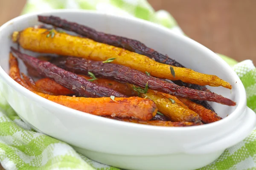
[[[116,120],[124,121],[124,122],[131,122],[131,123],[138,123],[143,125],[154,125],[154,126],[169,126],[169,127],[184,127],[184,126],[196,126],[202,125],[202,123],[195,123],[195,122],[171,122],[171,121],[161,121],[161,120],[149,120],[149,121],[140,121],[136,119],[119,119]]]

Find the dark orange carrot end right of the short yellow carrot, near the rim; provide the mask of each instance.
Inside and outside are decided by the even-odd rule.
[[[185,99],[183,97],[178,97],[178,99],[183,102],[185,105],[189,107],[192,111],[195,111],[200,116],[202,122],[204,123],[212,123],[222,119],[215,112],[204,108],[202,105],[199,105],[195,102],[192,102],[189,99]]]

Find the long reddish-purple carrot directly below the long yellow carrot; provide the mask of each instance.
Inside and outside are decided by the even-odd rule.
[[[87,74],[88,71],[90,71],[95,74],[95,76],[130,83],[141,88],[145,88],[145,86],[148,85],[148,88],[151,90],[172,94],[174,96],[207,100],[229,106],[236,105],[236,102],[221,95],[208,91],[198,91],[191,88],[180,87],[123,65],[103,63],[78,57],[58,57],[53,59],[52,63],[76,74]]]

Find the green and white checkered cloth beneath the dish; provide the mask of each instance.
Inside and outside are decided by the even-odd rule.
[[[119,16],[138,17],[158,23],[183,34],[166,11],[154,11],[146,0],[28,0],[23,14],[56,8],[82,8]],[[256,111],[256,68],[252,61],[236,62],[219,54],[236,71],[247,93],[247,106]],[[79,153],[68,144],[33,131],[3,97],[0,97],[0,162],[6,170],[118,170],[100,164]],[[256,169],[256,131],[231,147],[212,164],[201,170]]]

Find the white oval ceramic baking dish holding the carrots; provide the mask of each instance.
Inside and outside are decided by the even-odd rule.
[[[105,119],[50,102],[8,76],[13,31],[38,24],[37,14],[17,17],[0,27],[0,90],[19,116],[36,130],[74,146],[85,156],[133,170],[189,170],[203,167],[250,134],[256,116],[246,106],[244,87],[235,72],[215,53],[166,28],[139,20],[95,13],[58,10],[55,15],[144,42],[196,71],[215,74],[233,85],[213,92],[236,101],[236,107],[211,103],[224,119],[195,127],[154,127]],[[21,71],[26,72],[20,62]],[[7,72],[7,73],[6,73]],[[228,115],[228,116],[227,116]],[[227,117],[226,117],[227,116]]]

